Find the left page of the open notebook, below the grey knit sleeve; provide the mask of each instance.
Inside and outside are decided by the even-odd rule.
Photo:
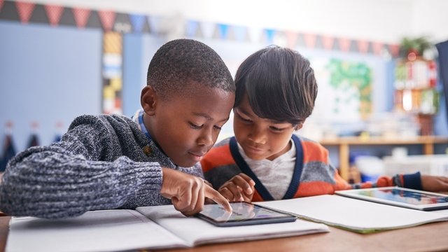
[[[185,246],[134,210],[90,211],[76,218],[11,218],[6,251],[123,251]]]

